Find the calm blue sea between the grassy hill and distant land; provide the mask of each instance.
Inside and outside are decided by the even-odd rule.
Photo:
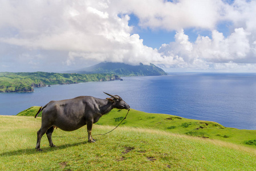
[[[256,74],[170,73],[123,79],[54,85],[35,88],[33,93],[0,93],[0,115],[17,115],[34,105],[76,96],[104,99],[104,91],[121,96],[139,111],[256,129]]]

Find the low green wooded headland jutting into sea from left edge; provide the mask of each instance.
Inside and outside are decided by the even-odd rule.
[[[54,72],[0,72],[0,92],[33,92],[52,84],[104,82],[120,79],[112,74],[59,74]]]

